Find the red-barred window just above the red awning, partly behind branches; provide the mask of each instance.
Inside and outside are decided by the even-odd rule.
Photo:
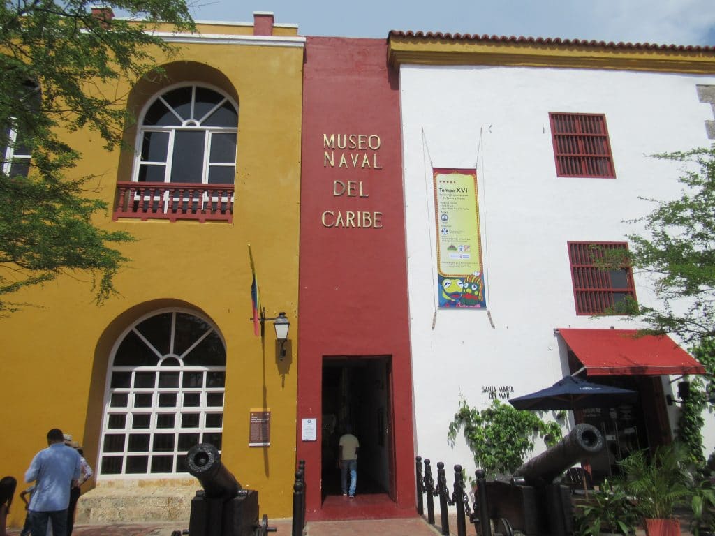
[[[594,262],[608,254],[609,250],[617,249],[628,251],[628,244],[568,242],[576,314],[622,314],[618,312],[619,306],[626,306],[629,299],[636,302],[636,287],[633,286],[630,267],[603,269]]]

